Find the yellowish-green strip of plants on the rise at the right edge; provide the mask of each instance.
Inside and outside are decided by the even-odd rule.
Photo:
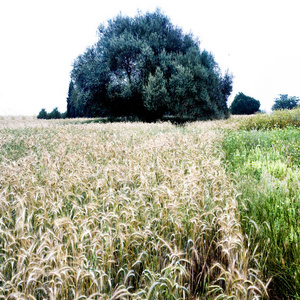
[[[257,114],[239,120],[239,128],[244,130],[264,130],[286,127],[300,127],[300,108],[274,111],[272,114]]]

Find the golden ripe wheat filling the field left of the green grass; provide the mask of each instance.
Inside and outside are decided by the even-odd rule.
[[[232,121],[78,123],[0,120],[2,298],[266,296],[221,165]]]

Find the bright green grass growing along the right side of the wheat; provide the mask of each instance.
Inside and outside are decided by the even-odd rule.
[[[288,114],[291,112],[277,113],[276,117],[279,120]],[[274,116],[255,116],[252,122],[258,124],[262,118]],[[238,200],[244,233],[260,270],[266,279],[272,278],[271,298],[299,299],[300,131],[291,127],[232,130],[223,147],[227,170],[241,193]]]

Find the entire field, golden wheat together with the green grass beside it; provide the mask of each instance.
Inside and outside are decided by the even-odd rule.
[[[254,118],[0,117],[0,298],[299,298],[300,133]]]

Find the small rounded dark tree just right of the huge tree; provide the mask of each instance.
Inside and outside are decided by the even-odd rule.
[[[259,111],[260,102],[243,93],[238,93],[230,106],[233,115],[251,115]]]

